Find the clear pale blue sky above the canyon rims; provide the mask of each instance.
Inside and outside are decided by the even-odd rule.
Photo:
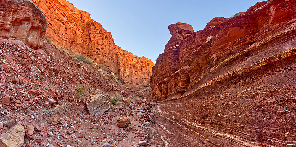
[[[168,25],[184,22],[194,32],[204,29],[215,18],[232,17],[245,12],[258,0],[68,0],[78,9],[91,14],[115,44],[134,55],[145,56],[155,63],[171,35]]]

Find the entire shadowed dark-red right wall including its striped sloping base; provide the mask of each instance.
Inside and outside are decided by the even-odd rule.
[[[151,77],[164,144],[295,146],[295,37],[292,0],[172,34]]]

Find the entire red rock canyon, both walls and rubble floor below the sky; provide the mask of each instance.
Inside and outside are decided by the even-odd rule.
[[[68,1],[0,0],[0,146],[296,146],[295,1],[168,30],[154,65]]]

